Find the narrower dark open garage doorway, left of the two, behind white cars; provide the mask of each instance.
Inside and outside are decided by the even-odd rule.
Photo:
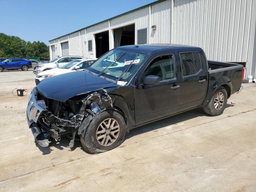
[[[109,50],[108,31],[95,34],[96,57],[99,58]]]

